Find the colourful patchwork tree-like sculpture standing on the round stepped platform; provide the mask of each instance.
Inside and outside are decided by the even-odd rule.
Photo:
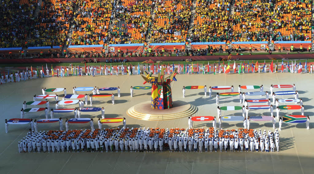
[[[176,81],[176,71],[177,68],[172,72],[169,77],[165,78],[164,74],[165,68],[161,69],[161,74],[158,73],[158,77],[152,77],[153,73],[148,74],[144,71],[143,79],[145,83],[152,84],[152,105],[153,109],[169,109],[172,108],[172,95],[171,95],[171,85],[172,81]]]

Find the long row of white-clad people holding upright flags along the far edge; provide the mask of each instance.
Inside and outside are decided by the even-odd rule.
[[[249,63],[249,61],[247,61],[247,65],[249,65],[249,66],[247,66],[246,65],[246,63],[245,63],[246,61],[243,61],[243,64],[242,64],[242,62],[240,63],[240,68],[238,69],[238,73],[239,74],[241,74],[241,73],[244,73],[245,72],[245,69],[246,69],[246,67],[247,67],[247,72],[249,72],[250,71],[250,63]],[[218,67],[216,67],[216,64],[217,63],[215,63],[214,62],[214,74],[216,74],[216,71],[218,70],[220,70],[220,68],[221,68],[221,71],[223,72],[223,73],[225,73],[225,74],[227,74],[227,73],[231,73],[231,66],[230,66],[230,62],[228,62],[228,66],[226,67],[226,69],[224,70],[224,67],[225,67],[225,61],[223,61],[223,65],[222,65],[222,67],[220,66],[220,61],[218,61]],[[157,65],[157,64],[156,64]],[[166,67],[166,65],[165,64],[163,64],[164,65],[164,67]],[[210,72],[210,64],[209,64],[209,62],[208,62],[208,64],[207,65],[205,65],[205,64],[198,64],[198,62],[197,62],[197,71],[195,72],[195,74],[209,74],[209,72]],[[200,65],[202,65],[202,68],[203,68],[203,73],[200,73]],[[258,63],[258,61],[256,61],[256,63],[255,63],[255,66],[254,66],[254,63],[253,63],[253,60],[252,60],[252,66],[251,66],[251,70],[252,70],[252,72],[254,71],[254,72],[257,72],[258,71],[258,65],[259,65],[259,63]],[[291,66],[290,66],[291,65]],[[115,65],[116,66],[116,70],[118,70],[118,65]],[[266,62],[265,62],[265,60],[264,60],[264,65],[263,65],[263,69],[262,69],[262,72],[264,72],[264,71],[266,71],[266,69],[265,69],[265,66],[266,66]],[[314,62],[313,62],[313,66],[314,66]],[[67,67],[66,66],[60,66],[60,69],[62,69],[62,67],[64,67],[64,76],[67,76],[68,75],[68,71],[67,71]],[[73,71],[73,64],[71,64],[71,74],[73,75],[73,76],[82,76],[83,75],[83,72],[82,72],[82,70],[81,70],[81,66],[80,65],[78,65],[78,66],[76,66],[76,65],[74,65],[74,67],[75,67],[75,74],[74,74],[74,71]],[[85,74],[86,75],[93,75],[93,76],[95,76],[95,69],[94,69],[94,67],[95,66],[93,66],[92,67],[92,69],[93,69],[93,71],[92,71],[92,73],[90,73],[90,71],[89,71],[89,69],[90,69],[90,66],[89,66],[89,64],[88,65],[86,65],[86,63],[85,63]],[[102,69],[102,66],[101,66],[101,64],[100,64],[100,67],[101,67],[101,69]],[[106,67],[106,64],[105,64],[105,67]],[[122,67],[123,67],[123,63],[122,63]],[[127,74],[129,74],[129,75],[132,75],[132,74],[134,74],[134,72],[133,72],[133,66],[132,66],[132,63],[130,63],[130,65],[128,65],[127,64]],[[145,69],[145,67],[146,67],[146,65],[145,64],[143,64],[143,70],[145,71],[146,69]],[[147,64],[147,67],[149,68],[149,64]],[[182,74],[181,73],[181,64],[180,64],[180,62],[178,62],[178,72],[177,72],[177,74]],[[192,67],[192,68],[191,68]],[[233,68],[233,73],[236,73],[236,61],[233,63],[233,66],[232,66],[232,68]],[[288,72],[298,72],[298,73],[301,73],[302,72],[302,64],[301,64],[301,61],[300,61],[300,63],[299,63],[299,66],[298,66],[298,69],[296,69],[297,68],[297,63],[296,63],[296,60],[295,60],[295,63],[293,64],[293,60],[291,60],[291,64],[289,64],[289,61],[287,62],[287,64],[286,64],[286,68],[287,68],[287,71]],[[307,62],[305,62],[305,66],[304,66],[304,69],[305,69],[305,72],[306,72],[306,70],[307,70],[307,68],[308,68],[308,66],[307,66]],[[44,67],[43,67],[43,65],[41,66],[41,69],[42,69],[42,76],[44,77],[45,76],[45,73],[44,73]],[[48,69],[48,66],[47,66],[47,64],[46,64],[46,69]],[[101,71],[101,69],[100,69],[100,74],[102,75],[102,71]],[[124,69],[124,67],[123,67],[123,69]],[[174,64],[174,62],[172,62],[172,67],[170,67],[170,64],[168,63],[168,68],[167,68],[167,72],[168,72],[168,74],[170,74],[170,69],[172,69],[172,72],[175,70],[175,64]],[[190,70],[189,70],[190,69]],[[206,73],[206,69],[207,69],[207,73]],[[52,77],[54,76],[54,70],[53,70],[53,66],[52,66],[52,64],[51,64],[51,75],[52,75]],[[57,66],[57,77],[59,77],[59,76],[63,76],[63,74],[62,73],[60,73],[59,74],[59,66]],[[110,74],[112,75],[113,74],[113,70],[114,70],[114,67],[110,64]],[[157,72],[155,72],[155,71],[158,71],[158,73],[160,73],[160,64],[158,63],[158,69],[156,68],[156,70],[154,69],[154,63],[152,63],[152,72],[153,72],[153,74],[155,74],[155,73],[157,73]],[[194,68],[193,68],[193,62],[191,62],[191,64],[190,64],[190,66],[189,66],[189,64],[185,64],[185,62],[183,63],[183,74],[190,74],[190,72],[191,72],[191,74],[194,74]],[[28,71],[28,67],[26,67],[26,72]],[[34,76],[37,76],[37,77],[39,77],[39,75],[40,75],[40,73],[39,73],[39,71],[38,71],[38,66],[36,67],[36,72],[34,73],[33,72],[33,67],[32,66],[30,66],[30,71],[31,71],[31,75],[32,75],[32,77],[34,77]],[[69,70],[70,71],[70,70]],[[138,63],[138,69],[137,69],[137,71],[138,71],[138,74],[140,74],[140,68],[139,68],[139,63]],[[283,72],[284,71],[284,61],[282,60],[282,62],[281,62],[281,72]],[[24,70],[23,70],[23,72],[24,72]],[[151,72],[151,71],[150,71]],[[273,60],[272,60],[272,62],[270,63],[270,67],[269,67],[269,72],[271,72],[271,73],[273,73],[273,72],[278,72],[278,60],[277,60],[277,63],[275,64],[275,69],[274,69],[274,67],[273,67]],[[309,67],[309,72],[310,72],[310,67]],[[19,73],[19,70],[18,70],[18,73]],[[3,74],[5,74],[5,73],[3,73]],[[14,73],[14,71],[13,71],[13,74],[15,74]],[[9,68],[8,68],[8,75],[9,75]],[[27,73],[27,75],[28,75],[28,73]],[[0,76],[1,76],[1,73],[0,73]],[[13,75],[13,78],[14,78],[14,82],[15,82],[15,75]]]

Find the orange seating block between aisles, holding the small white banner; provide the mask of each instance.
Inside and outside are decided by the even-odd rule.
[[[156,5],[154,24],[150,28],[150,42],[185,42],[191,19],[192,2],[189,0],[161,0],[156,2]]]

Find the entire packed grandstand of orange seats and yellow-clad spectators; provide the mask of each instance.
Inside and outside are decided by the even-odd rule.
[[[68,53],[76,45],[184,43],[176,46],[181,50],[217,42],[218,52],[219,45],[225,51],[233,42],[266,42],[278,49],[276,41],[307,41],[307,48],[314,31],[312,5],[312,0],[3,0],[0,48],[49,46]]]

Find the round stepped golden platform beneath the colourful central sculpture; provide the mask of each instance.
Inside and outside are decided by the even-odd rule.
[[[127,110],[127,115],[140,120],[173,120],[191,116],[198,108],[185,101],[173,101],[173,108],[158,110],[151,108],[151,101],[146,101],[132,106]]]

